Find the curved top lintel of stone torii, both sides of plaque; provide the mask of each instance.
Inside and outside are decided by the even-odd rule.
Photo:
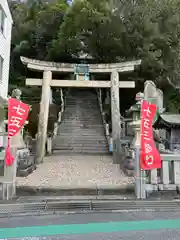
[[[21,57],[21,61],[31,70],[36,71],[52,71],[52,72],[74,72],[74,64],[57,63],[49,61],[40,61],[31,58]],[[107,63],[107,64],[88,64],[90,73],[111,73],[113,70],[117,72],[133,71],[136,66],[141,64],[141,60]]]

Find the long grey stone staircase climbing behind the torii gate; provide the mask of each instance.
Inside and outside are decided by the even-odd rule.
[[[107,154],[97,95],[94,90],[71,89],[63,120],[53,140],[53,153]]]

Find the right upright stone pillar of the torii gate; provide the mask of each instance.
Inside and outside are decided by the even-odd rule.
[[[119,73],[111,73],[111,119],[112,119],[112,139],[113,139],[113,163],[120,162],[121,152],[121,123],[119,105]]]

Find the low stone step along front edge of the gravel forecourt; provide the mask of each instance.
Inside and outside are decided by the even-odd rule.
[[[134,185],[128,186],[91,186],[91,187],[37,187],[17,186],[17,196],[96,196],[96,195],[129,195],[134,193]]]

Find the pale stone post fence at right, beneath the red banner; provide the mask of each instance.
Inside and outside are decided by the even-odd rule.
[[[145,172],[145,191],[177,190],[180,188],[180,154],[161,154],[162,168]]]

